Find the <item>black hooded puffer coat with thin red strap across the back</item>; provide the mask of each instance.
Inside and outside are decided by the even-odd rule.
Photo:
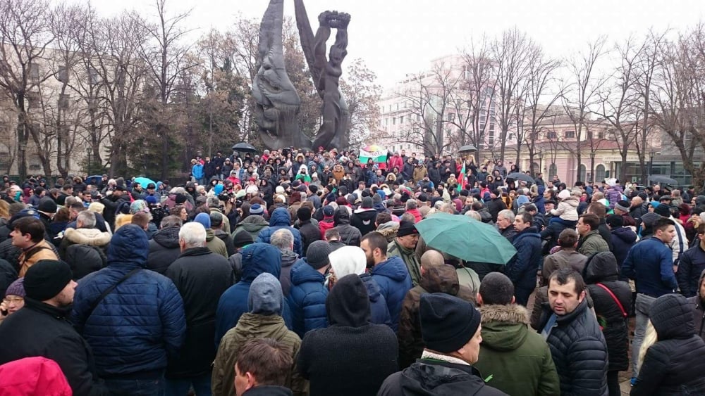
[[[617,260],[610,252],[593,255],[585,263],[582,277],[592,298],[597,321],[607,342],[610,356],[609,371],[626,371],[629,368],[628,317],[622,314],[614,298],[597,283],[608,288],[619,300],[627,314],[632,309],[632,290],[629,283],[618,280]]]

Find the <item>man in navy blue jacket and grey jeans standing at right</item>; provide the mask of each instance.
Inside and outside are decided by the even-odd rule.
[[[634,279],[637,284],[637,322],[632,341],[632,385],[639,376],[639,348],[644,341],[646,324],[649,323],[649,309],[656,298],[673,293],[673,290],[678,288],[678,281],[673,273],[673,251],[668,248],[675,236],[675,223],[671,219],[661,217],[651,229],[654,230],[651,238],[642,239],[632,246],[622,264],[622,275]]]

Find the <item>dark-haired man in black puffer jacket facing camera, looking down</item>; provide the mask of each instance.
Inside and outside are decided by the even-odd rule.
[[[539,329],[551,348],[561,395],[608,395],[607,343],[585,295],[585,282],[572,269],[548,279]]]

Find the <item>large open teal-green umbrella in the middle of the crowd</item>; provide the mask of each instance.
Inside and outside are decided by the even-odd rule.
[[[464,215],[436,213],[416,224],[431,248],[465,261],[507,264],[517,250],[494,226]]]

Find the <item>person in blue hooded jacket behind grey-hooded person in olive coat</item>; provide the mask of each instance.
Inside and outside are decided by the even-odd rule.
[[[259,274],[272,274],[279,279],[281,273],[281,253],[269,243],[252,243],[244,248],[242,255],[242,278],[221,293],[216,309],[215,345],[219,345],[225,333],[238,324],[240,316],[249,312],[247,295],[250,285]],[[217,299],[217,298],[216,298]],[[289,320],[288,305],[284,305],[283,318]]]

